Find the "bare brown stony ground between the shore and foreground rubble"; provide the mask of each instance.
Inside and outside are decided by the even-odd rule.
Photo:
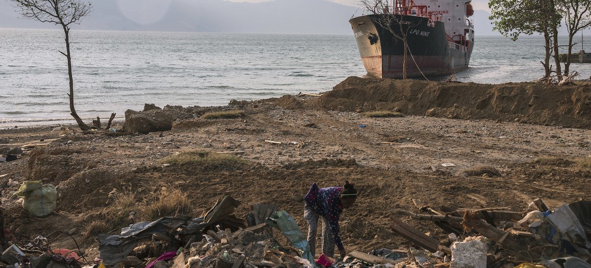
[[[389,216],[400,208],[418,212],[412,199],[433,208],[524,211],[534,198],[556,207],[591,195],[590,130],[421,116],[366,118],[356,112],[284,109],[273,101],[248,105],[245,111],[245,118],[207,127],[138,136],[60,137],[50,132],[55,126],[2,130],[0,140],[8,143],[59,138],[22,159],[0,163],[0,175],[7,174],[0,177],[5,226],[27,237],[68,231],[93,259],[96,240],[83,240],[83,235],[93,222],[109,218],[101,214],[109,206],[109,192],[131,189],[149,199],[165,187],[186,192],[195,215],[229,194],[242,201],[239,217],[259,202],[278,204],[306,231],[303,204],[290,201],[291,196],[303,196],[313,182],[339,186],[347,179],[356,183],[360,196],[342,214],[341,235],[347,250],[369,251],[408,245],[390,230]],[[206,143],[212,147],[203,148]],[[161,162],[193,149],[244,151],[239,157],[248,164],[214,168]],[[481,166],[503,176],[466,175]],[[41,179],[57,186],[59,204],[54,214],[35,218],[9,198],[18,188],[9,182]],[[447,235],[430,222],[401,218],[436,237]],[[56,243],[76,247],[65,235]]]

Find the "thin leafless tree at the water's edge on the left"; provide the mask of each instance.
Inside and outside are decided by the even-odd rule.
[[[70,24],[80,24],[80,20],[90,14],[90,2],[81,0],[9,0],[20,8],[23,18],[28,20],[38,20],[40,22],[50,22],[60,25],[66,35],[66,53],[59,51],[66,56],[68,62],[68,76],[70,79],[70,114],[78,123],[81,130],[90,130],[90,127],[80,119],[74,108],[74,78],[72,76],[72,54],[70,53]],[[111,127],[115,114],[111,114],[109,124]],[[93,121],[96,128],[100,128],[100,118]]]

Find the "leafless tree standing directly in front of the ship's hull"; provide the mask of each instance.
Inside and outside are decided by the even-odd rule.
[[[402,79],[407,79],[408,30],[418,24],[405,20],[405,10],[401,7],[393,7],[389,4],[389,0],[360,0],[359,2],[366,12],[375,15],[374,22],[386,28],[395,38],[394,41],[402,41],[404,45]],[[394,27],[398,29],[395,30]]]

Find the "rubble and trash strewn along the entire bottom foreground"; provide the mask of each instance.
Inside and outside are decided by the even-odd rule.
[[[8,243],[2,260],[8,267],[519,267],[591,268],[591,202],[580,201],[548,209],[541,199],[531,211],[507,208],[439,210],[413,200],[424,214],[398,210],[395,215],[433,221],[443,240],[391,217],[391,230],[411,247],[348,252],[345,259],[312,256],[296,221],[277,205],[256,204],[246,220],[233,215],[239,201],[220,198],[202,217],[163,217],[137,222],[116,235],[99,235],[100,256],[85,259],[83,251],[53,248],[52,238],[39,236],[27,244],[4,233]],[[280,231],[290,245],[281,244]],[[391,245],[388,245],[391,246]]]

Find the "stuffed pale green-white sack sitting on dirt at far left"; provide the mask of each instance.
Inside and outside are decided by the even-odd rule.
[[[57,190],[51,184],[41,182],[24,182],[18,188],[17,196],[21,196],[22,208],[37,217],[46,217],[56,209]]]

